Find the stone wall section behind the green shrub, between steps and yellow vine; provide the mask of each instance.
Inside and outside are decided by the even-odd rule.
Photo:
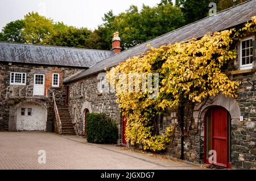
[[[121,139],[121,115],[118,104],[115,102],[115,95],[113,93],[100,94],[97,90],[98,81],[97,75],[92,75],[69,84],[69,111],[75,123],[75,131],[80,136],[84,136],[84,110],[88,109],[90,113],[106,113],[112,117],[118,125]]]

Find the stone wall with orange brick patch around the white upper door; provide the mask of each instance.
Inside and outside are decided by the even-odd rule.
[[[53,120],[53,107],[48,101],[51,102],[52,94],[49,89],[55,92],[56,102],[58,106],[65,106],[66,98],[66,87],[63,85],[63,79],[69,77],[70,75],[76,73],[79,69],[77,68],[67,68],[60,66],[43,66],[43,65],[30,65],[30,64],[15,64],[9,66],[7,62],[0,63],[0,92],[5,90],[10,86],[10,73],[11,72],[20,72],[27,73],[26,86],[10,86],[8,92],[3,91],[0,97],[0,131],[8,131],[9,125],[9,115],[10,106],[16,104],[21,99],[22,101],[35,98],[33,97],[33,85],[34,85],[34,74],[44,74],[45,75],[45,89],[44,96],[39,97],[39,100],[43,100],[48,104],[48,116],[47,121]],[[60,75],[60,86],[52,87],[52,74],[59,73]],[[7,93],[7,99],[6,99]],[[49,98],[46,99],[46,95],[49,95]]]

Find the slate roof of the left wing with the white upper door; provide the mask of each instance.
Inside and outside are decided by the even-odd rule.
[[[113,51],[45,45],[6,43],[0,41],[0,62],[59,65],[89,68],[113,56]]]

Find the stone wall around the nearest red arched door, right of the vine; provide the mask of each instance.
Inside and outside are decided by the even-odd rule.
[[[251,36],[251,35],[250,35]],[[202,108],[201,112],[197,110],[200,105],[197,105],[193,118],[195,122],[192,124],[190,136],[185,137],[184,157],[191,162],[204,163],[204,113],[211,106],[221,106],[226,108],[231,114],[231,162],[233,168],[237,169],[256,169],[256,41],[253,39],[254,61],[253,69],[247,71],[234,72],[239,70],[240,56],[234,62],[230,62],[226,73],[230,79],[240,81],[241,86],[238,90],[238,98],[230,99],[224,96],[217,96],[211,98],[207,104]],[[233,72],[232,72],[233,71]],[[241,73],[240,73],[241,72]],[[240,116],[243,120],[240,121]],[[175,110],[170,110],[165,113],[163,119],[161,133],[163,134],[165,128],[173,125],[176,127],[175,138],[173,144],[168,147],[167,154],[173,157],[180,157],[180,131],[177,127],[177,116]]]

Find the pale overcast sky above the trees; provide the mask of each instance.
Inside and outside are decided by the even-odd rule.
[[[160,0],[0,0],[0,31],[6,23],[22,19],[31,11],[39,12],[55,22],[93,30],[102,23],[104,13],[111,9],[114,14],[119,14],[129,9],[130,5],[141,8],[143,3],[154,6],[159,2]]]

